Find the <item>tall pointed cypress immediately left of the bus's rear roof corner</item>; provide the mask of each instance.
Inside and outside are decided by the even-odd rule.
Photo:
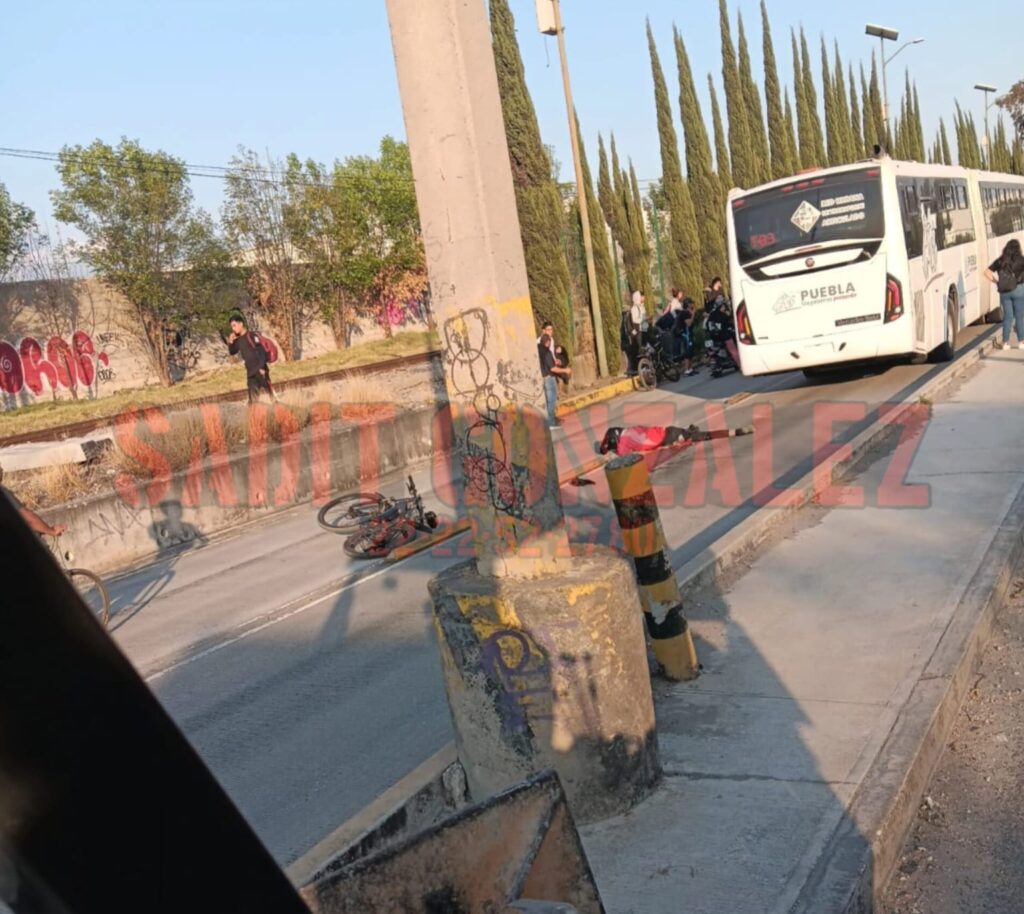
[[[711,142],[693,84],[689,55],[679,30],[674,29],[673,34],[679,67],[679,111],[686,138],[686,175],[700,246],[700,272],[703,276],[724,275],[725,193],[712,164]],[[701,288],[694,287],[693,291]]]

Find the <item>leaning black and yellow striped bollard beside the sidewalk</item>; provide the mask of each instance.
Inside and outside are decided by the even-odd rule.
[[[683,616],[683,598],[669,558],[647,465],[639,453],[630,453],[609,461],[604,473],[623,543],[636,567],[654,656],[669,679],[694,680],[700,674],[700,664]]]

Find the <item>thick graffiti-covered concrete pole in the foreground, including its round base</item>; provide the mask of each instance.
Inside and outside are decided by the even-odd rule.
[[[429,583],[456,747],[475,800],[551,768],[594,821],[658,776],[636,572],[566,534],[484,0],[387,12],[473,539]]]

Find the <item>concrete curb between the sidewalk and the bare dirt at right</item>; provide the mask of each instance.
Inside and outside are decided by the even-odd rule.
[[[792,914],[870,914],[876,909],[1022,559],[1024,483],[1019,478],[1013,504]]]

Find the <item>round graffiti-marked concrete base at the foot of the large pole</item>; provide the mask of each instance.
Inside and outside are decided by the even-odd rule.
[[[625,813],[660,775],[640,601],[613,550],[567,570],[430,582],[456,746],[474,800],[546,768],[578,822]]]

